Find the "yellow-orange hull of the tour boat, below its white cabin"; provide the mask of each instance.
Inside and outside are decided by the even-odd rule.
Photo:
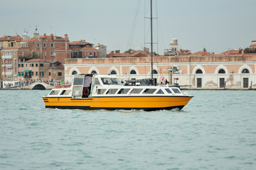
[[[84,110],[171,110],[182,109],[193,96],[43,97],[46,108]]]

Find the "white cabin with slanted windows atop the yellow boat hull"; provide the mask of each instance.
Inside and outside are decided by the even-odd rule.
[[[88,98],[107,96],[183,96],[174,86],[124,86],[111,75],[76,74],[70,88],[53,89],[48,94],[55,97]]]

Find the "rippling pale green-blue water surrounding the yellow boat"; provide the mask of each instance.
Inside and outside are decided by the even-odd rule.
[[[0,169],[255,169],[256,91],[188,91],[181,111],[45,108],[0,91]]]

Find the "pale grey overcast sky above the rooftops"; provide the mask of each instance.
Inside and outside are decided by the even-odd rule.
[[[149,42],[149,0],[0,2],[0,36],[26,29],[32,37],[37,27],[40,35],[67,33],[70,41],[100,43],[108,52],[142,49]],[[154,51],[163,55],[171,38],[191,52],[249,47],[256,40],[255,8],[255,0],[154,0]]]

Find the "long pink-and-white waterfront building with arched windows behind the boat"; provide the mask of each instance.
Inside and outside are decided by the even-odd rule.
[[[171,74],[171,67],[181,70]],[[256,55],[154,57],[154,79],[163,78],[190,89],[256,89]],[[117,73],[122,81],[151,77],[151,57],[66,59],[65,81],[74,72]],[[133,71],[133,72],[132,72]],[[136,74],[134,74],[136,72]],[[132,74],[133,73],[133,74]]]

